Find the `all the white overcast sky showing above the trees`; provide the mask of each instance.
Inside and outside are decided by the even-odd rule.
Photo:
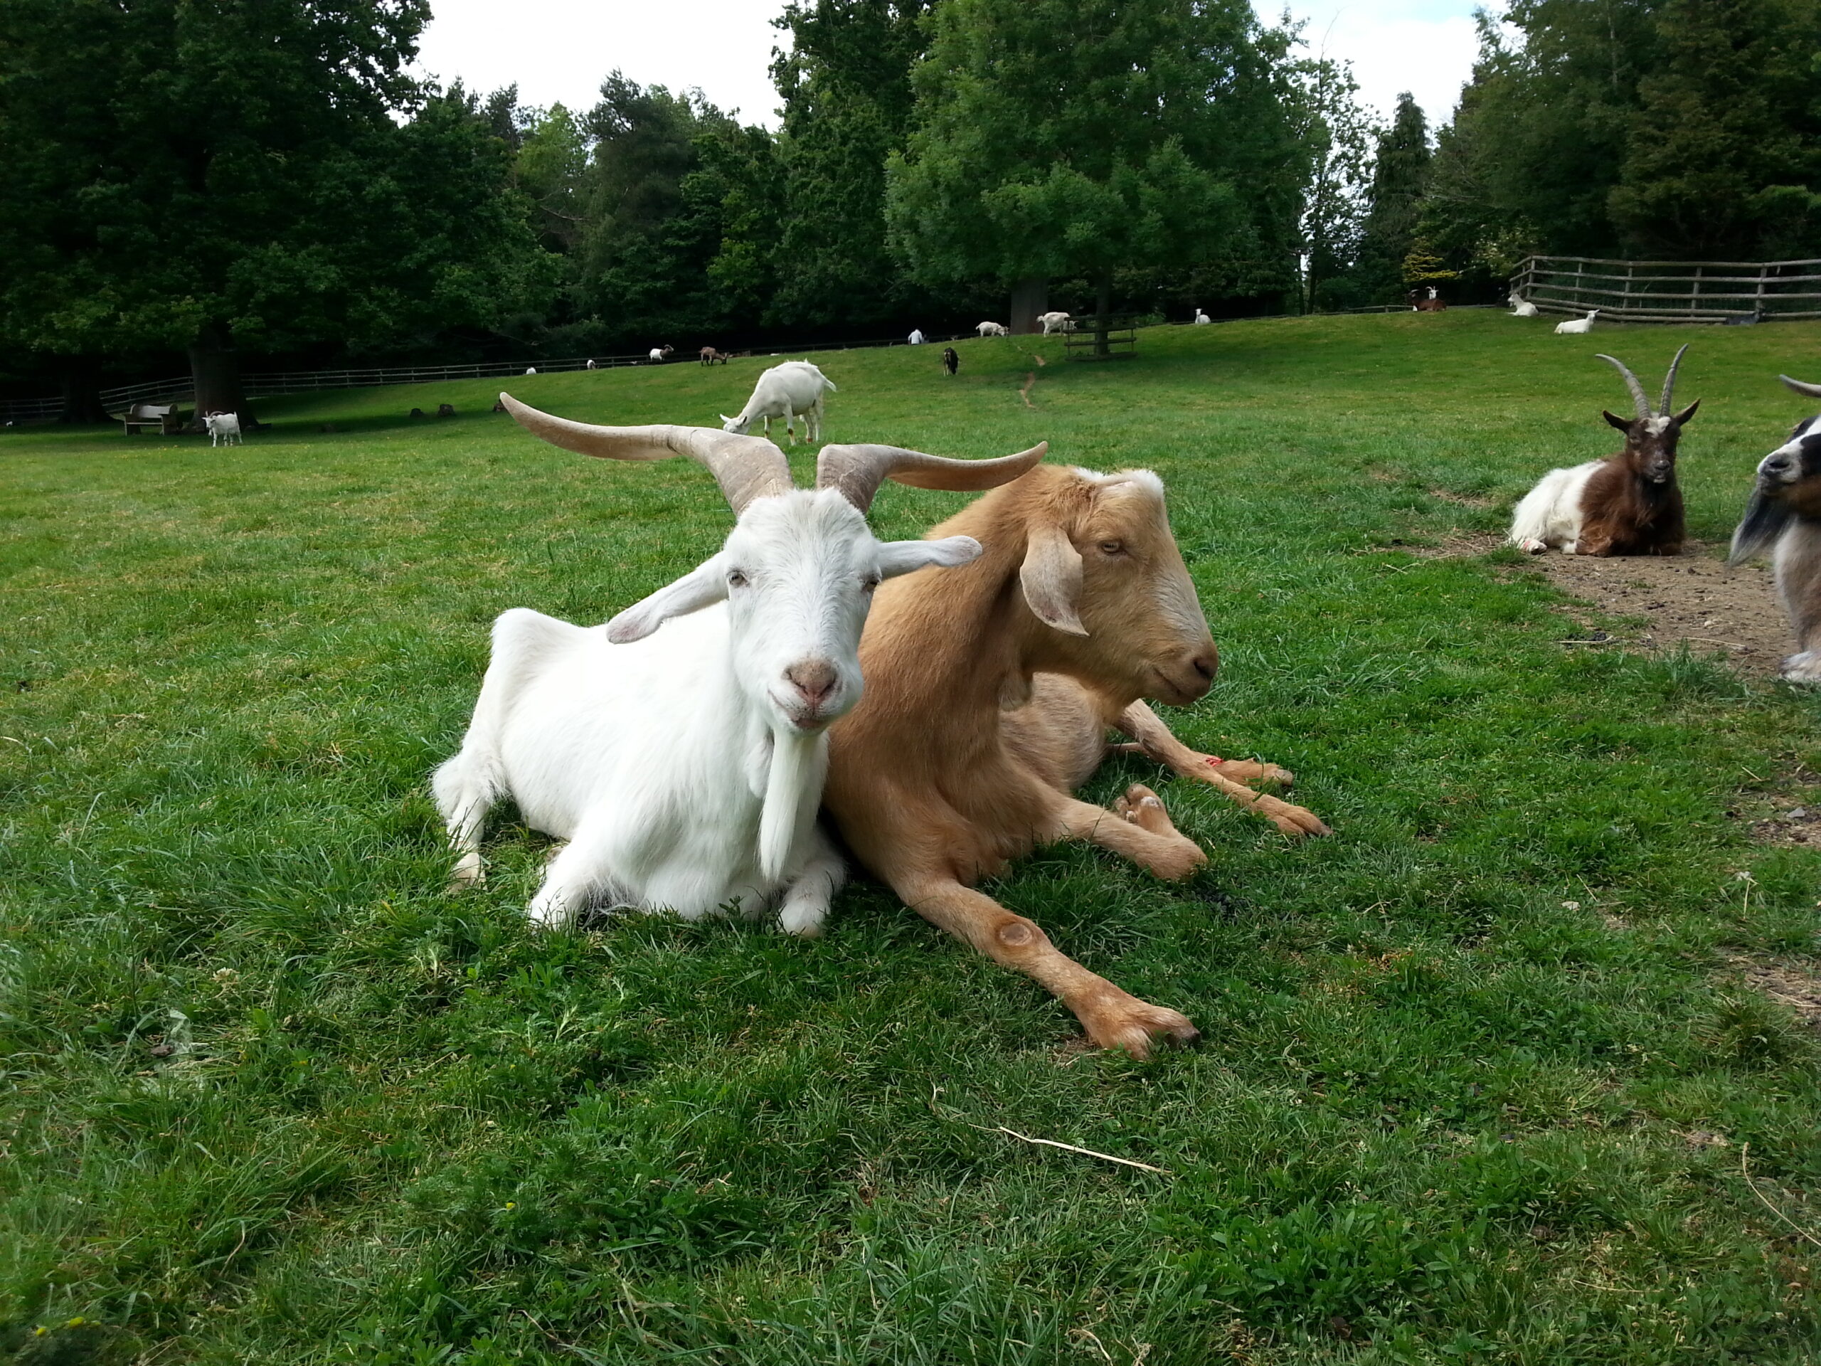
[[[421,67],[470,89],[517,82],[524,104],[594,106],[614,67],[641,86],[699,86],[750,124],[778,126],[767,67],[781,0],[433,0]],[[1280,4],[1255,0],[1267,20]],[[1389,115],[1411,91],[1446,122],[1473,69],[1475,0],[1289,0],[1311,51],[1353,62],[1360,97]]]

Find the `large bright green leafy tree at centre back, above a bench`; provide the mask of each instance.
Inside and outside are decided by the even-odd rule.
[[[887,173],[914,277],[1012,286],[1014,328],[1043,280],[1085,277],[1105,315],[1114,271],[1231,251],[1251,228],[1242,177],[1278,191],[1262,250],[1291,262],[1306,153],[1275,86],[1282,44],[1260,44],[1246,4],[947,0],[931,24]]]

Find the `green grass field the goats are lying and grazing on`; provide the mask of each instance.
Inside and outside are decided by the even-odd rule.
[[[1717,545],[1817,326],[816,357],[834,441],[1158,470],[1224,652],[1167,719],[1335,827],[1120,759],[1093,794],[1155,783],[1206,872],[1058,847],[991,885],[1195,1018],[1147,1064],[865,880],[812,943],[539,934],[548,841],[501,810],[488,887],[444,892],[426,776],[488,623],[603,621],[708,556],[701,468],[541,444],[497,382],[273,401],[231,450],[0,435],[0,1359],[1814,1361],[1821,1049],[1752,971],[1821,971],[1821,869],[1752,831],[1821,801],[1821,699],[1564,647],[1519,556],[1435,554],[1617,446],[1595,352],[1655,392],[1683,341]],[[765,364],[504,386],[714,423]],[[890,486],[874,523],[960,503]]]

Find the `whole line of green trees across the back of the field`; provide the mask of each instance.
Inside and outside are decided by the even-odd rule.
[[[1246,0],[794,0],[776,131],[408,73],[430,0],[0,7],[0,377],[1493,297],[1817,244],[1821,0],[1515,0],[1431,137]],[[759,55],[754,55],[759,60]]]

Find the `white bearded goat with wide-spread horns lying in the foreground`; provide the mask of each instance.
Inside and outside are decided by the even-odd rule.
[[[685,920],[778,905],[787,931],[819,933],[847,878],[816,825],[825,730],[860,701],[872,590],[980,556],[967,535],[876,541],[872,495],[883,479],[994,488],[1045,448],[949,461],[825,446],[816,488],[799,490],[783,452],[759,437],[588,426],[499,397],[523,426],[585,455],[692,455],[738,521],[719,554],[605,627],[526,608],[493,623],[473,721],[432,780],[459,854],[455,883],[481,882],[483,821],[510,796],[528,825],[568,840],[528,907],[541,925],[565,925],[595,902]]]

